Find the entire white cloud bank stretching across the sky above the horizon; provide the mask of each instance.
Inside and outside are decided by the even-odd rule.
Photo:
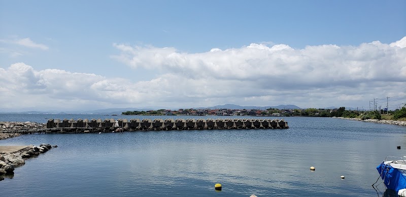
[[[118,54],[111,57],[128,65],[127,72],[150,69],[156,71],[156,77],[137,81],[35,70],[16,63],[0,68],[0,90],[5,93],[0,96],[0,108],[176,108],[225,103],[367,107],[371,99],[406,91],[406,36],[391,44],[374,41],[293,49],[253,43],[204,53],[113,46]]]

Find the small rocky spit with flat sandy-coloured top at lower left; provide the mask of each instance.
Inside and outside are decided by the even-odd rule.
[[[4,178],[13,178],[15,167],[25,164],[29,157],[37,156],[52,148],[50,144],[41,144],[40,146],[29,145],[25,148],[14,150],[19,146],[0,146],[0,181]],[[54,145],[53,147],[58,147]]]

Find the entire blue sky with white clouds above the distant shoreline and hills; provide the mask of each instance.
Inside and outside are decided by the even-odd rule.
[[[406,103],[405,8],[402,0],[0,0],[0,111],[368,110],[374,99],[396,109]]]

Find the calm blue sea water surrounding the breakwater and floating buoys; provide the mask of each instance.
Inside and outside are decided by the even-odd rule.
[[[99,117],[156,118],[0,114],[0,121]],[[7,196],[377,196],[371,187],[379,176],[376,167],[387,155],[406,155],[406,127],[285,120],[290,127],[285,130],[32,134],[1,140],[0,145],[59,147],[28,159],[12,179],[0,181],[0,191]],[[216,183],[222,191],[214,190]],[[383,184],[380,189],[385,191]]]

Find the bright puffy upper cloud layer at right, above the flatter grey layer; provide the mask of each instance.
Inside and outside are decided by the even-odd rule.
[[[174,48],[114,46],[113,56],[134,69],[144,67],[190,78],[210,77],[218,81],[263,81],[297,89],[350,86],[357,82],[404,82],[406,37],[390,45],[380,42],[360,46],[321,45],[292,49],[251,44],[239,49],[212,49],[187,54]],[[400,48],[398,48],[400,47]]]

